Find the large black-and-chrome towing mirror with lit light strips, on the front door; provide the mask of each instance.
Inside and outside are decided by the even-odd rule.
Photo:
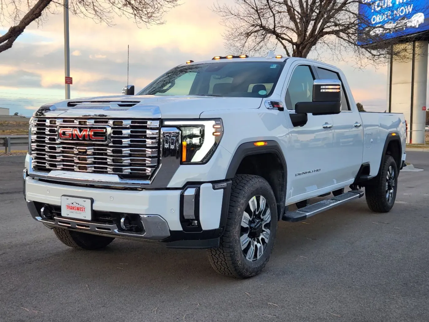
[[[316,79],[313,82],[313,101],[297,102],[295,113],[339,114],[341,112],[341,90],[341,81],[338,79]]]

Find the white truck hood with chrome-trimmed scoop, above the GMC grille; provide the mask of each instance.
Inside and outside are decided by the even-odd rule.
[[[259,108],[261,98],[217,96],[99,96],[44,105],[38,117],[199,118],[204,111]]]

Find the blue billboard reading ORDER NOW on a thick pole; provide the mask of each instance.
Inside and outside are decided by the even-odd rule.
[[[429,0],[361,0],[359,45],[429,30]]]

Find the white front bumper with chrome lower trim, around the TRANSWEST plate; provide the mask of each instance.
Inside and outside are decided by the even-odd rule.
[[[161,241],[167,247],[211,248],[224,231],[231,182],[187,185],[169,190],[113,190],[62,185],[31,178],[24,171],[24,195],[32,217],[48,228],[143,241]],[[189,198],[189,192],[193,192]],[[62,217],[61,196],[94,199],[91,221]],[[50,209],[44,216],[41,209]],[[126,231],[120,220],[137,216],[141,232]],[[195,220],[198,223],[195,225]],[[190,222],[193,225],[190,226]]]

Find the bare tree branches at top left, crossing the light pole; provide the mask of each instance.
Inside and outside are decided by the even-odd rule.
[[[178,6],[178,0],[69,0],[69,12],[91,18],[109,26],[115,15],[132,18],[136,24],[163,24],[166,10]],[[12,47],[24,29],[33,21],[42,24],[48,14],[64,7],[55,0],[0,0],[0,26],[12,25],[0,36],[0,53]]]

